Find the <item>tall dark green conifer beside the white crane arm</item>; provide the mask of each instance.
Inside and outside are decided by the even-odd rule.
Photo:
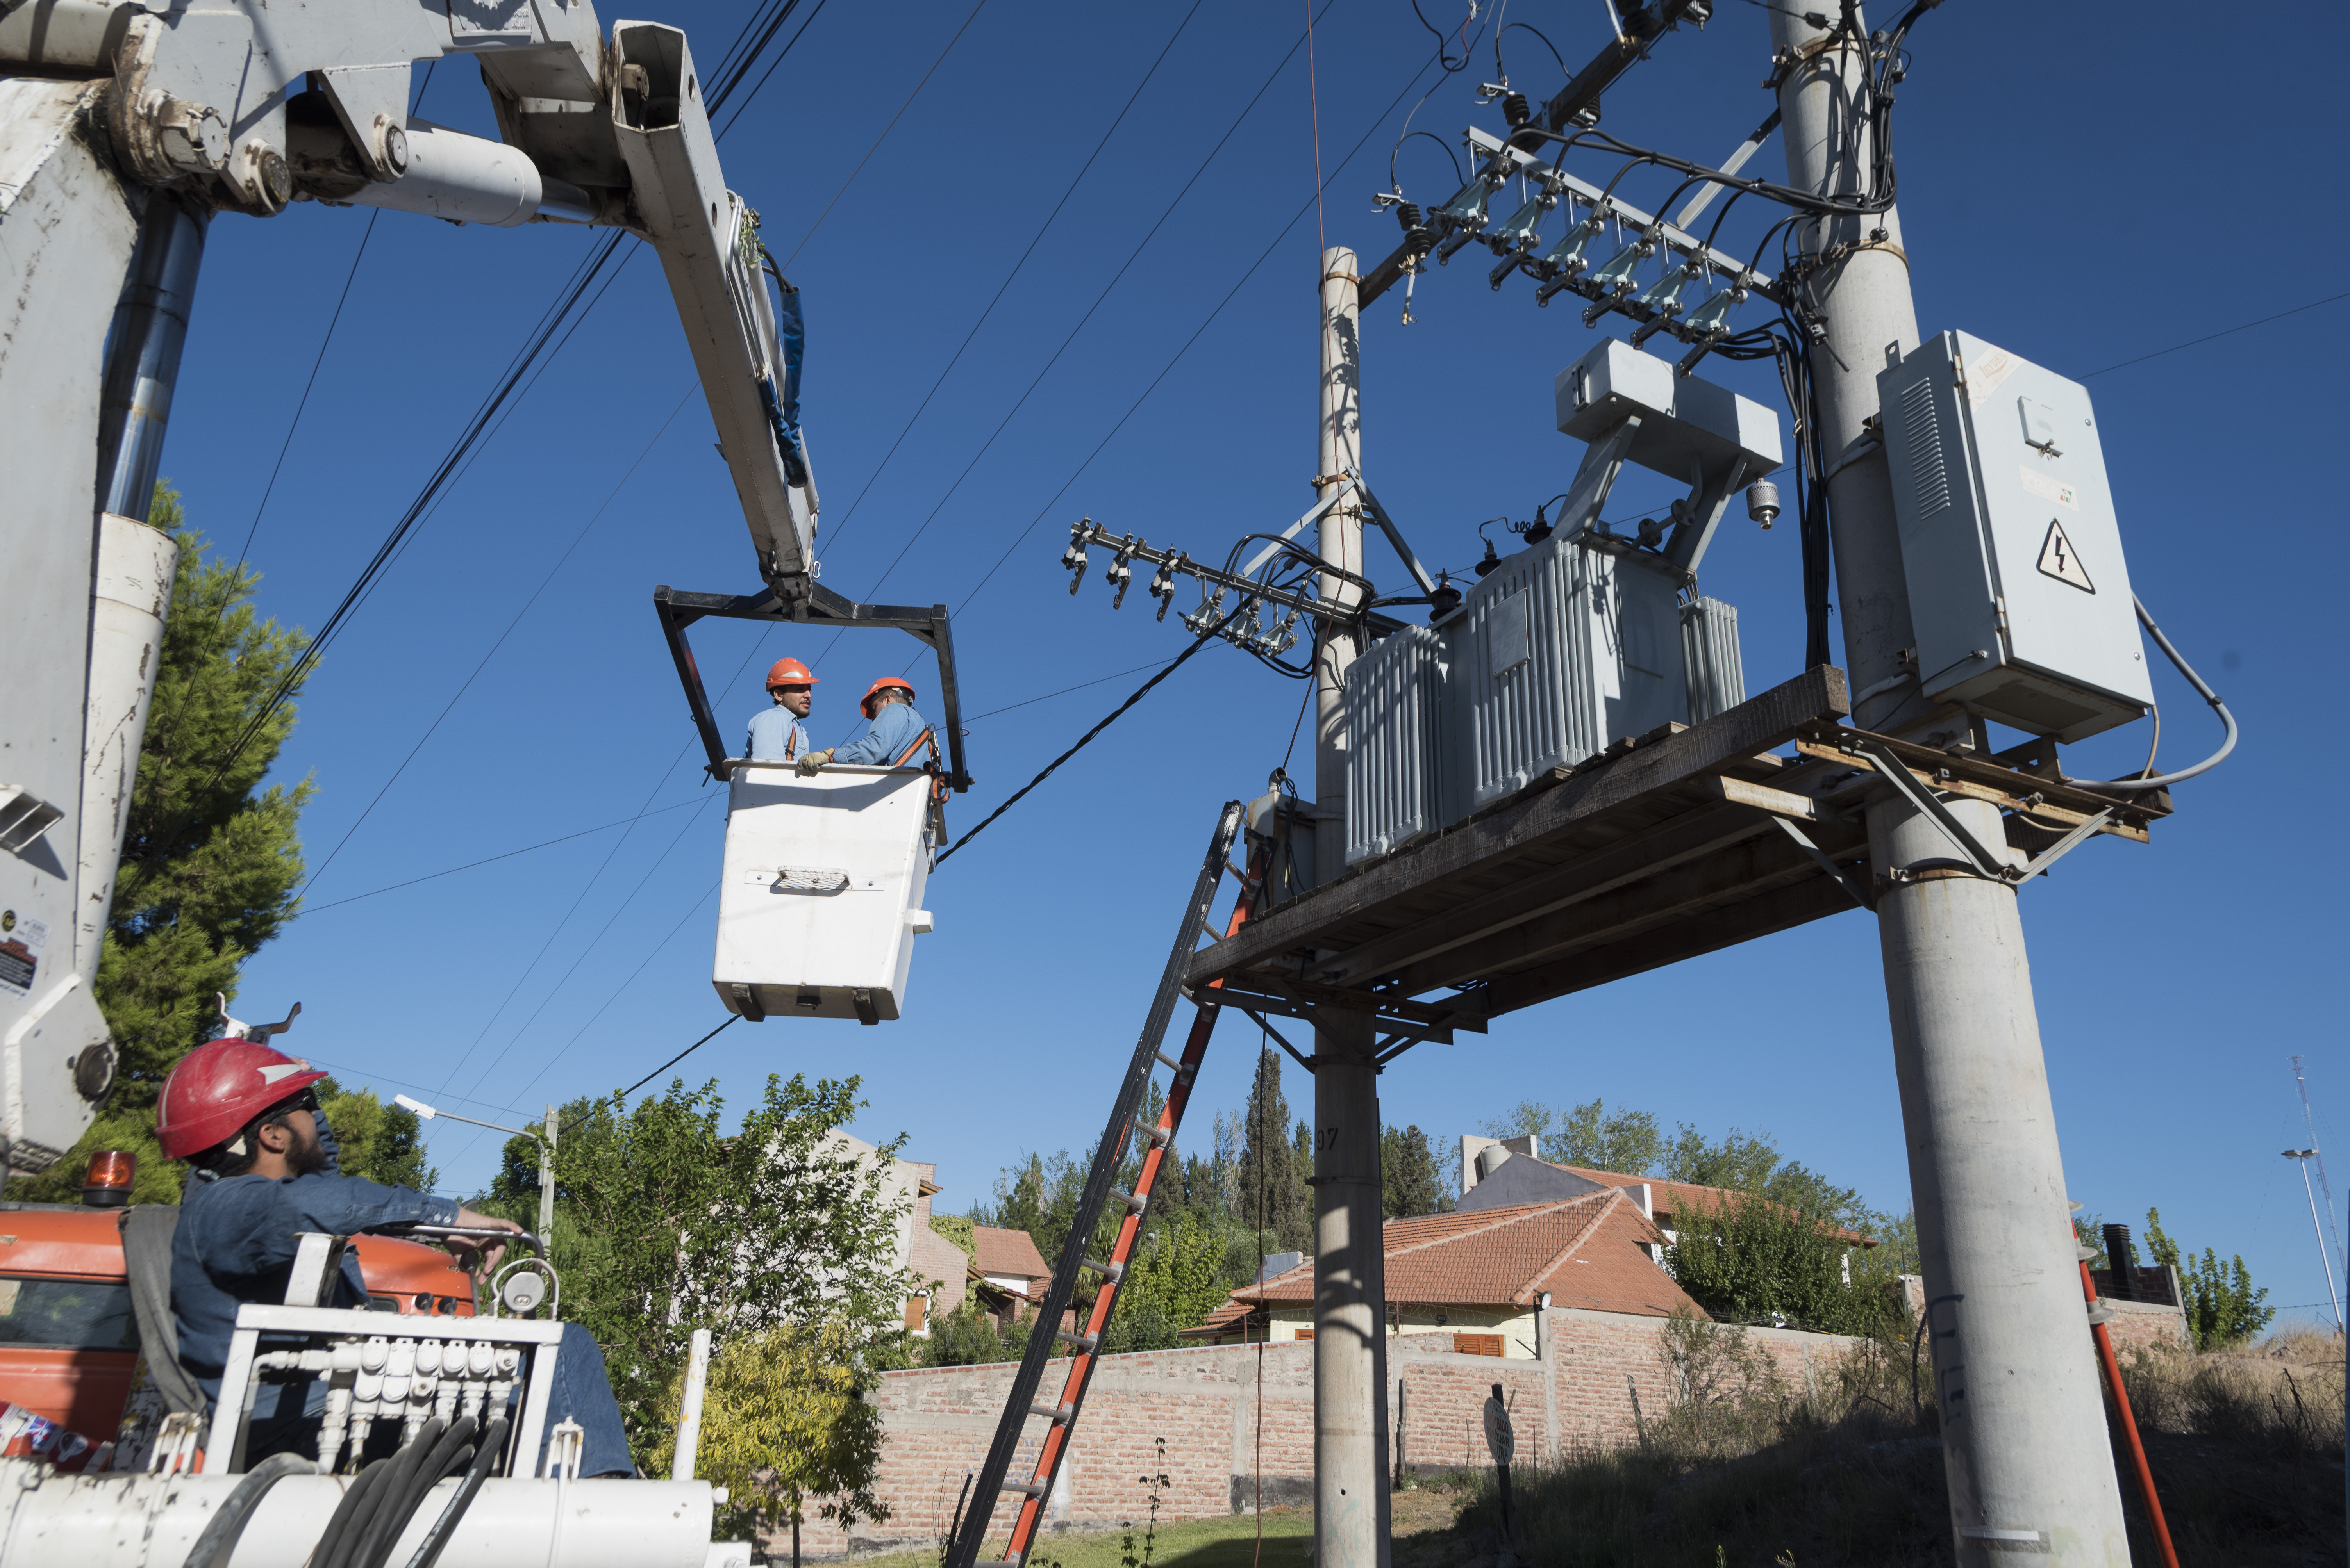
[[[291,702],[263,707],[308,638],[254,613],[261,575],[207,556],[169,484],[148,521],[179,540],[179,568],[92,984],[120,1052],[115,1089],[73,1153],[12,1197],[70,1199],[89,1153],[122,1148],[139,1155],[134,1202],[179,1202],[186,1169],[155,1143],[155,1096],[219,1033],[216,995],[235,998],[244,960],[294,918],[303,876],[310,782],[261,779],[294,730]]]

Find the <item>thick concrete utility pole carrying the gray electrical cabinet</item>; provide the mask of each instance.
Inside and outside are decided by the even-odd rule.
[[[1779,87],[1788,183],[1861,192],[1859,42],[1821,47],[1821,28],[1786,9],[1770,26],[1779,59],[1795,56]],[[1852,455],[1871,439],[1861,423],[1878,413],[1878,371],[1918,345],[1918,317],[1896,214],[1807,221],[1798,235],[1805,254],[1852,246],[1807,286],[1828,333],[1812,364],[1819,439],[1842,465],[1828,505],[1845,660],[1866,692],[1899,674],[1915,638],[1885,453]],[[1854,723],[1880,732],[1932,739],[1929,718],[1953,739],[1967,730],[1913,685],[1859,709]],[[1998,810],[1948,805],[1983,843],[2005,843]],[[1948,857],[1941,831],[1892,791],[1868,807],[1868,836],[1958,1561],[2127,1563],[2016,890],[1953,871],[1887,883]]]

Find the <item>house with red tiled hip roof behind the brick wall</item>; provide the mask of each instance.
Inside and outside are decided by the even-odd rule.
[[[1542,1354],[1542,1310],[1704,1317],[1657,1263],[1657,1225],[1624,1190],[1386,1221],[1386,1331],[1450,1336],[1450,1350]],[[1201,1345],[1314,1338],[1314,1265],[1246,1286],[1184,1333]]]

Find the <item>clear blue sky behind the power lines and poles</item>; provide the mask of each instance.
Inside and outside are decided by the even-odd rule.
[[[1607,94],[1607,129],[1701,160],[1737,146],[1770,110],[1770,47],[1760,9],[1720,12]],[[656,0],[639,14],[689,28],[710,63],[747,7]],[[1596,5],[1520,0],[1509,16],[1570,63],[1605,23]],[[2244,723],[2237,758],[2178,791],[2150,847],[2094,843],[2023,894],[2073,1195],[2131,1223],[2157,1204],[2176,1237],[2242,1251],[2275,1303],[2301,1307],[2326,1289],[2301,1181],[2277,1155],[2308,1141],[2289,1054],[2308,1059],[2319,1141],[2350,1124],[2338,984],[2324,979],[2341,918],[2322,890],[2341,850],[2298,810],[2343,772],[2341,728],[2322,718],[2338,664],[2324,584],[2343,566],[2324,474],[2350,300],[2122,364],[2338,291],[2317,258],[2338,254],[2343,218],[2310,176],[2350,40],[2331,7],[2275,21],[2294,47],[2230,54],[2183,5],[2117,23],[1953,0],[1911,35],[1896,146],[1920,326],[2087,378],[2131,580]],[[1337,0],[1309,82],[1307,52],[1292,54],[1302,23],[1302,7],[1234,0],[1189,14],[827,5],[721,143],[806,298],[825,584],[956,606],[980,779],[956,829],[1187,641],[1149,620],[1142,594],[1112,613],[1097,575],[1067,594],[1069,521],[1220,554],[1302,512],[1316,230],[1384,256],[1396,228],[1370,195],[1405,115],[1455,146],[1469,122],[1499,124],[1471,101],[1490,42],[1441,80],[1408,5]],[[1509,33],[1506,59],[1520,87],[1556,89],[1530,33]],[[463,63],[435,73],[423,113],[489,131]],[[1457,183],[1426,138],[1396,167],[1419,202]],[[1784,171],[1777,143],[1758,169]],[[1640,178],[1626,192],[1654,202]],[[1725,237],[1751,244],[1741,221]],[[174,401],[164,474],[230,554],[254,530],[261,606],[289,624],[317,624],[343,596],[592,244],[562,225],[383,214],[352,272],[364,230],[367,211],[317,204],[216,221]],[[1419,554],[1452,568],[1476,559],[1478,521],[1523,519],[1565,488],[1582,448],[1556,434],[1551,376],[1593,343],[1579,310],[1535,310],[1523,282],[1488,291],[1476,256],[1422,279],[1417,324],[1398,324],[1396,298],[1365,312],[1365,469]],[[1779,406],[1767,366],[1708,373]],[[1610,512],[1661,500],[1626,481]],[[1734,514],[1706,563],[1706,589],[1739,606],[1751,690],[1800,662],[1795,549],[1793,528]],[[1372,575],[1382,566],[1401,580],[1375,552]],[[301,1000],[291,1045],[345,1082],[491,1120],[627,1084],[721,1021],[707,981],[721,807],[698,789],[656,582],[743,592],[754,573],[660,270],[637,251],[313,678],[277,775],[317,786],[303,824],[317,876],[308,913],[249,965],[240,1014]],[[719,692],[728,732],[764,702],[757,669],[785,653],[815,662],[820,742],[851,730],[872,676],[914,655],[891,634],[832,646],[738,627],[698,631],[698,648],[714,685],[745,667]],[[912,671],[926,676],[926,662]],[[1079,683],[1095,685],[1046,697]],[[2202,756],[2209,714],[2169,671],[2157,692],[2164,761]],[[743,1023],[679,1070],[717,1075],[738,1106],[766,1073],[862,1073],[858,1131],[909,1134],[907,1153],[938,1162],[945,1207],[982,1197],[1022,1150],[1083,1145],[1215,807],[1264,789],[1300,699],[1229,648],[1203,653],[940,871],[905,1021]],[[2136,765],[2143,744],[2124,730],[2068,763],[2099,777]],[[1250,1033],[1229,1023],[1210,1052],[1201,1120],[1241,1101]],[[1770,1131],[1875,1204],[1908,1207],[1866,915],[1530,1009],[1490,1038],[1419,1047],[1384,1077],[1386,1120],[1438,1141],[1520,1099],[1591,1096],[1666,1124]],[[1292,1106],[1309,1099],[1292,1073]],[[494,1148],[432,1131],[451,1190],[482,1183]]]

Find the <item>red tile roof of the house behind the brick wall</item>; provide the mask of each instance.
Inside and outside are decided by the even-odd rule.
[[[1645,1251],[1657,1228],[1624,1192],[1586,1192],[1553,1204],[1476,1214],[1424,1214],[1386,1223],[1386,1298],[1422,1305],[1553,1307],[1671,1317],[1704,1310]],[[1314,1268],[1300,1265],[1231,1293],[1229,1307],[1314,1300]]]

